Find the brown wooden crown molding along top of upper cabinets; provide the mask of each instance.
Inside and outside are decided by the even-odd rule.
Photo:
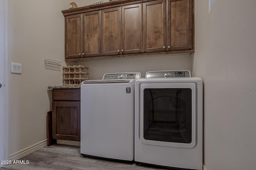
[[[68,16],[73,14],[81,14],[83,12],[102,10],[110,7],[112,8],[112,7],[122,6],[122,5],[138,4],[138,3],[149,2],[149,1],[154,1],[154,0],[116,0],[112,2],[104,2],[96,5],[82,6],[74,9],[62,10],[61,12],[64,16]]]

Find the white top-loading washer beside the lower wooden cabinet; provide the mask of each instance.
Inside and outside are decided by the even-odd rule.
[[[134,84],[140,73],[109,73],[81,83],[81,155],[134,160]]]

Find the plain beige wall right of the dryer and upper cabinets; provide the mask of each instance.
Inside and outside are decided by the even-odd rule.
[[[256,1],[195,1],[192,70],[204,79],[207,170],[256,167]]]

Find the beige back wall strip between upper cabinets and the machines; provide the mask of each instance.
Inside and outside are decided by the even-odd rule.
[[[153,55],[145,57],[128,57],[76,62],[89,67],[89,79],[102,79],[105,73],[140,72],[145,77],[147,71],[190,70],[191,56],[186,55]]]

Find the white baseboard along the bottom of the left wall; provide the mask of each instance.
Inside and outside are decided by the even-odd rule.
[[[38,142],[31,146],[28,146],[27,148],[24,148],[18,152],[15,152],[14,154],[11,154],[9,156],[9,160],[18,160],[18,159],[38,150],[40,148],[43,148],[44,146],[47,146],[47,139],[42,140],[41,142]]]

